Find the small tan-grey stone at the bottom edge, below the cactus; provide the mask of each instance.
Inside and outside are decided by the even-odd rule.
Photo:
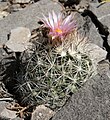
[[[50,120],[54,114],[55,112],[51,109],[45,107],[44,105],[39,105],[32,113],[31,120]]]

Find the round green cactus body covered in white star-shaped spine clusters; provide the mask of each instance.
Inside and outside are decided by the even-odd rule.
[[[17,92],[23,103],[45,104],[55,110],[65,104],[92,72],[92,61],[85,54],[76,51],[71,55],[63,50],[60,54],[38,42],[25,74],[17,77]]]

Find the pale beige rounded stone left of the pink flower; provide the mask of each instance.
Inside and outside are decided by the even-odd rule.
[[[6,42],[6,46],[13,52],[23,52],[32,44],[29,42],[31,32],[28,28],[18,27],[11,30],[10,39]]]

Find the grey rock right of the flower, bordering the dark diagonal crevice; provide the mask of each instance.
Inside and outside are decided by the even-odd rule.
[[[83,18],[78,13],[74,15],[74,19],[77,23],[80,39],[84,39],[86,37],[89,42],[103,48],[103,39],[101,38],[97,28],[92,23],[91,19],[89,17]]]

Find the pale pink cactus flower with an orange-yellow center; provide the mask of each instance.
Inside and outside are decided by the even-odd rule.
[[[52,14],[49,13],[48,18],[44,15],[43,17],[41,21],[44,23],[45,27],[49,28],[49,35],[52,37],[52,40],[55,38],[65,38],[76,27],[72,14],[63,19],[61,13],[57,15],[53,11]]]

